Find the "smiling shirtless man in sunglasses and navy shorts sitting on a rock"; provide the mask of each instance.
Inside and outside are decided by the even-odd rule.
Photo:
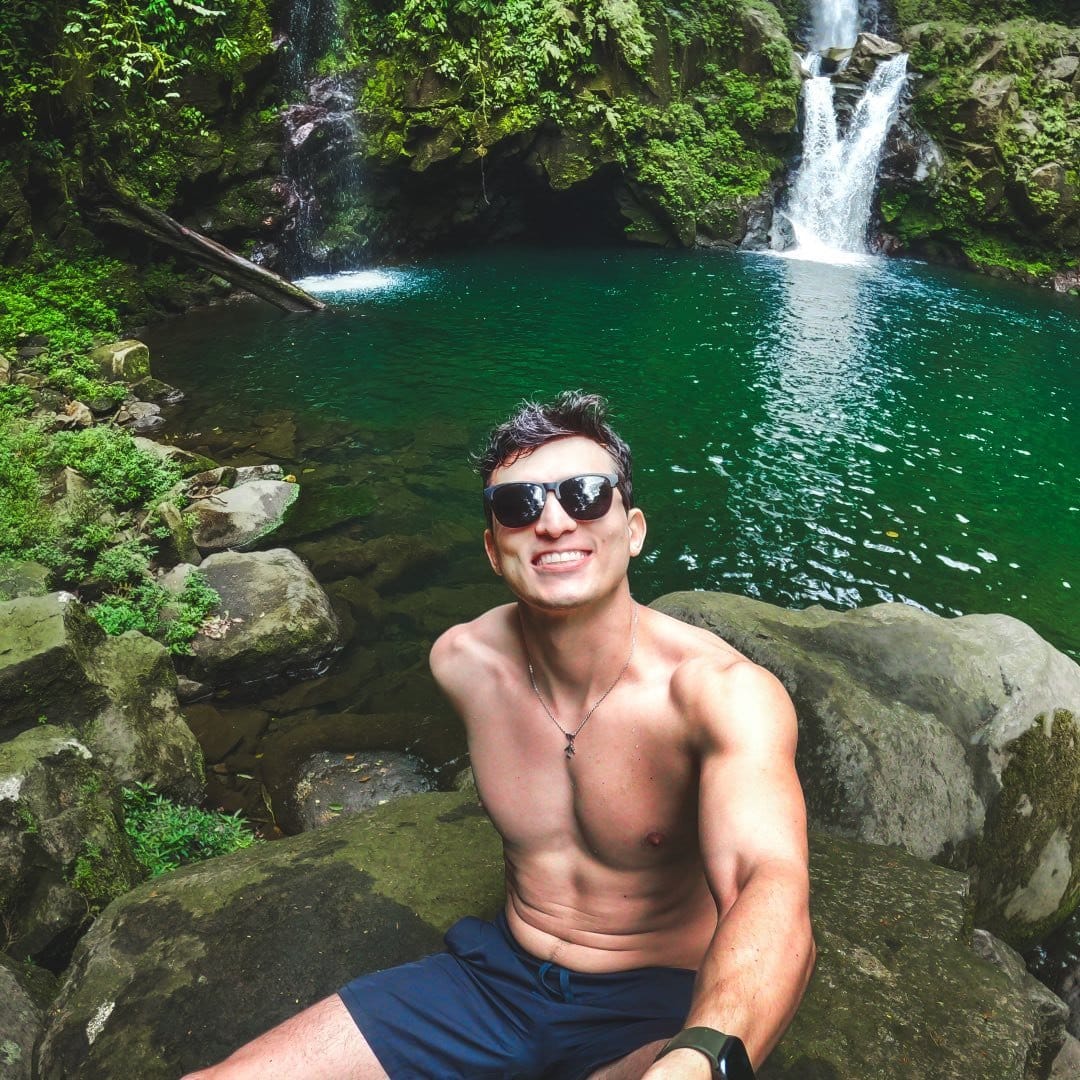
[[[516,603],[431,650],[503,839],[504,913],[198,1077],[739,1080],[791,1023],[814,959],[795,714],[632,598],[645,517],[604,410],[563,394],[492,433],[484,546]]]

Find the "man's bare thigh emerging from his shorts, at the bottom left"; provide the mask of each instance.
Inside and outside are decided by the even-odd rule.
[[[336,995],[184,1080],[386,1080],[367,1040]]]

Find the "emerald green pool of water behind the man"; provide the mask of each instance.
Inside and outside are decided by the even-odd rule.
[[[488,249],[346,287],[325,315],[230,305],[161,326],[154,368],[188,394],[188,445],[297,472],[284,542],[448,553],[394,584],[434,597],[401,624],[417,651],[498,597],[471,588],[490,575],[468,451],[523,396],[583,387],[635,451],[639,599],[1004,611],[1080,656],[1075,298],[646,249]]]

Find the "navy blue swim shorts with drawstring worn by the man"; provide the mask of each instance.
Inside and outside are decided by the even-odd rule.
[[[446,949],[338,991],[391,1080],[579,1080],[678,1031],[697,974],[568,971],[526,953],[502,914],[456,922]]]

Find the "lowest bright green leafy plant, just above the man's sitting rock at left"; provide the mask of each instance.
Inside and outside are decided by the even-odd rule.
[[[151,878],[256,842],[239,814],[181,806],[149,784],[124,788],[123,799],[124,829]]]

